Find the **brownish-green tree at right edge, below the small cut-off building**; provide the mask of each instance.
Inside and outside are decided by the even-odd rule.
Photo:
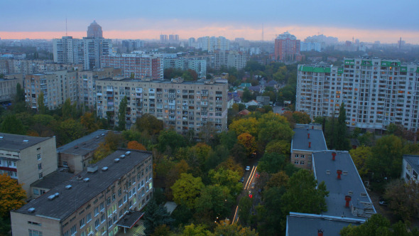
[[[404,222],[419,213],[419,183],[415,181],[391,181],[386,187],[385,198],[390,202],[388,208]]]

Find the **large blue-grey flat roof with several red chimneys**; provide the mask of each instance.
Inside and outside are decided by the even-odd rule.
[[[332,154],[336,154],[335,161]],[[361,181],[357,168],[347,151],[317,151],[312,154],[312,166],[317,182],[325,181],[329,196],[326,197],[327,212],[342,218],[366,219],[376,210]],[[340,170],[340,179],[337,171]],[[346,196],[351,196],[346,208]]]

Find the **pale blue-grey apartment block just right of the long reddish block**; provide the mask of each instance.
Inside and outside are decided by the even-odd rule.
[[[198,77],[207,75],[207,60],[197,58],[165,58],[164,69],[178,68],[181,70],[195,70]]]

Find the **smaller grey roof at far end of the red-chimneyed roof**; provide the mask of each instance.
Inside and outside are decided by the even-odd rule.
[[[294,136],[291,141],[291,151],[323,151],[327,150],[325,136],[321,129],[315,129],[311,124],[295,124]],[[310,134],[310,135],[309,135]],[[309,147],[309,142],[310,147]]]

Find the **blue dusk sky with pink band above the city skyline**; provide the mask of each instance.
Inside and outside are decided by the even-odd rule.
[[[0,0],[0,38],[86,36],[97,21],[104,38],[178,34],[273,41],[285,31],[304,40],[419,44],[418,0]],[[263,31],[263,38],[262,38]]]

